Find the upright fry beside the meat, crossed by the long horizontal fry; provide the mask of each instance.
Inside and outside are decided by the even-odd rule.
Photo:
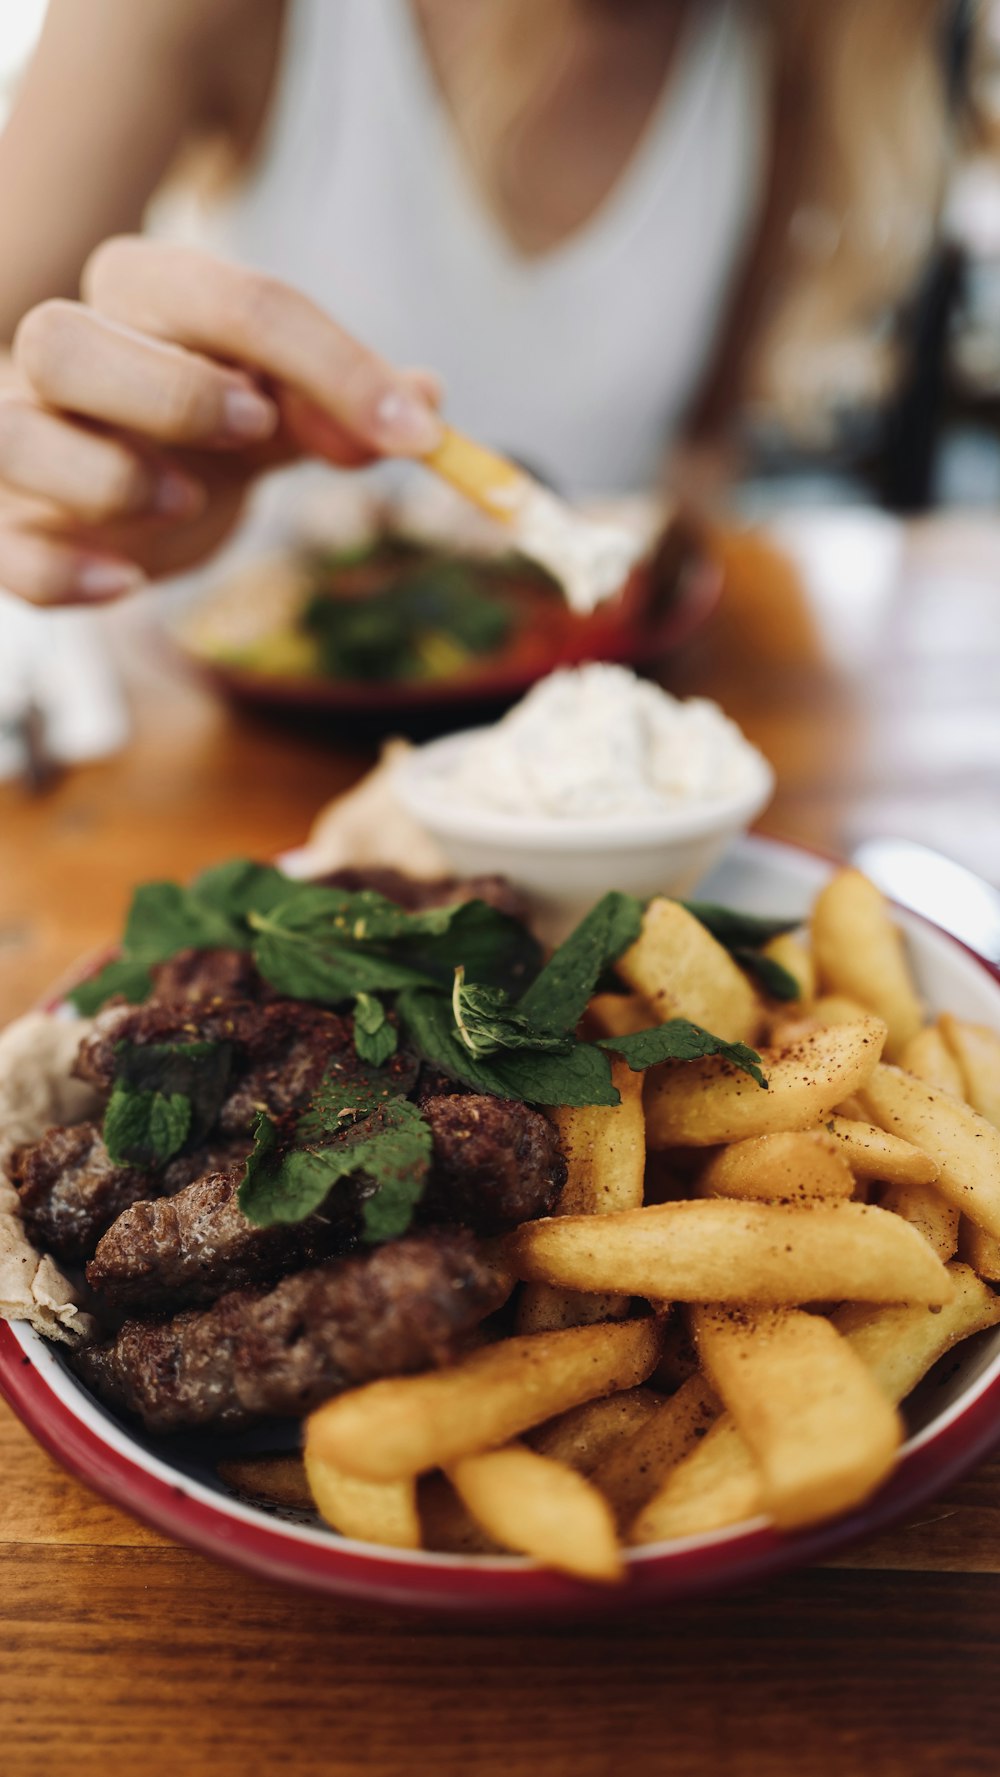
[[[560,1215],[606,1215],[611,1210],[636,1208],[643,1201],[643,1075],[634,1073],[625,1061],[615,1061],[611,1079],[620,1104],[554,1112],[560,1148],[568,1166],[556,1210]],[[517,1331],[547,1333],[588,1320],[615,1320],[627,1313],[627,1295],[581,1295],[579,1290],[567,1294],[538,1283],[520,1294]]]

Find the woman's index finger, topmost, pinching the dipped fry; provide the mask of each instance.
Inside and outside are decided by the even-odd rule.
[[[277,279],[195,249],[119,238],[91,258],[83,288],[115,322],[288,384],[375,455],[421,457],[440,441],[419,384]]]

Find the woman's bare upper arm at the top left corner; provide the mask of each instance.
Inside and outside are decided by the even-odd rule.
[[[0,135],[0,343],[87,256],[137,229],[181,144],[213,123],[275,0],[52,0]]]

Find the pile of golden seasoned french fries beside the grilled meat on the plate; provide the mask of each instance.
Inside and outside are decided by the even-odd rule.
[[[1000,1322],[1000,1036],[927,1022],[856,871],[769,954],[798,1000],[764,1000],[679,903],[650,904],[591,1031],[693,1018],[760,1047],[767,1091],[719,1057],[616,1064],[620,1105],[554,1112],[568,1182],[496,1246],[503,1335],[307,1422],[337,1532],[615,1582],[627,1548],[796,1530],[892,1471],[901,1404]]]

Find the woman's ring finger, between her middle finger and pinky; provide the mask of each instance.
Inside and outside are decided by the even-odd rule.
[[[37,494],[89,524],[130,514],[194,517],[204,489],[124,442],[87,432],[30,402],[0,402],[0,482]]]

